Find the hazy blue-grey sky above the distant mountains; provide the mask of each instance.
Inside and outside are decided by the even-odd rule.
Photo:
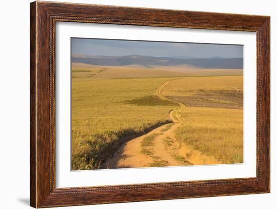
[[[243,57],[242,45],[72,38],[72,54],[122,56]]]

